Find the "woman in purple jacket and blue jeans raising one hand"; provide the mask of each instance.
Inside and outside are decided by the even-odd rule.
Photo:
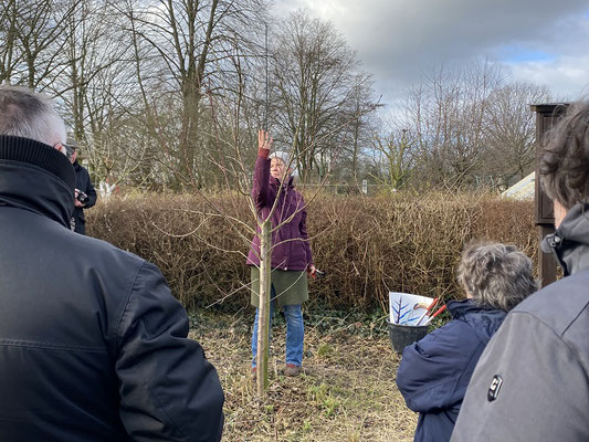
[[[265,219],[272,212],[272,302],[282,307],[286,318],[285,376],[298,376],[303,362],[304,324],[301,304],[307,301],[307,274],[315,275],[307,235],[307,211],[303,196],[293,185],[285,152],[273,152],[272,138],[265,130],[257,134],[257,159],[253,178],[252,198],[259,217]],[[277,201],[276,201],[277,199]],[[274,204],[276,202],[276,204]],[[276,227],[278,227],[276,229]],[[251,267],[252,305],[256,307],[252,333],[252,369],[255,372],[257,354],[260,238],[252,241],[246,264]]]

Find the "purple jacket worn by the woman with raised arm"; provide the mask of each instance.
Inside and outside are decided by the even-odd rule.
[[[265,219],[276,196],[280,180],[270,176],[270,159],[259,156],[255,160],[252,197],[261,219]],[[272,233],[272,269],[303,271],[313,263],[307,235],[307,212],[303,196],[293,186],[293,177],[282,185],[278,202],[272,213],[272,228],[294,217]],[[260,265],[260,229],[248,254],[248,265]]]

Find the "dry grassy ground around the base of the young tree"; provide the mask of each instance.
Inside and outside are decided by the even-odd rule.
[[[284,320],[275,317],[267,398],[251,375],[253,311],[193,322],[225,392],[223,441],[411,441],[417,415],[395,385],[399,356],[381,319],[305,317],[305,358],[298,378],[281,373]],[[377,326],[378,324],[378,326]]]

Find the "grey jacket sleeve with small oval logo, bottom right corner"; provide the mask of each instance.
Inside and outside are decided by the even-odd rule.
[[[549,326],[514,312],[481,356],[452,441],[587,440],[587,375],[577,352]]]

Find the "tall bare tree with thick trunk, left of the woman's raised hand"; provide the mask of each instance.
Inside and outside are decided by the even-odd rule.
[[[265,4],[263,0],[128,0],[122,11],[132,33],[146,124],[177,183],[202,187],[203,97],[220,87],[222,69],[232,66],[235,39],[245,40],[249,27],[260,27]],[[160,107],[164,103],[167,107]]]

